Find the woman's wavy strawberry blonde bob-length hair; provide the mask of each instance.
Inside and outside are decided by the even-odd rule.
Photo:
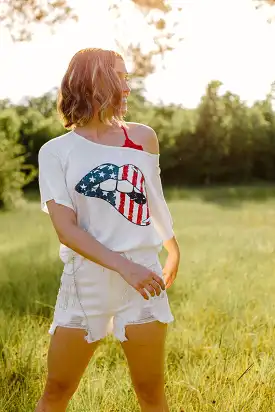
[[[121,80],[114,67],[119,53],[103,49],[83,49],[70,61],[57,98],[57,111],[66,129],[84,126],[99,107],[99,119],[123,124]],[[112,109],[111,113],[108,109]]]

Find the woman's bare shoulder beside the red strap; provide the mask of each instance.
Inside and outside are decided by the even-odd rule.
[[[128,134],[131,140],[143,147],[145,152],[159,153],[159,142],[152,127],[142,123],[127,122]]]

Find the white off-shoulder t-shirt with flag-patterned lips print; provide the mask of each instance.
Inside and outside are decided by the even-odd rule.
[[[44,144],[38,160],[42,210],[52,199],[73,209],[78,225],[109,249],[161,249],[174,236],[159,155],[72,131]]]

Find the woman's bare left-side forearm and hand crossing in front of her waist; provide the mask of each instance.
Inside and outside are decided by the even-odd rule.
[[[149,269],[134,263],[117,252],[108,249],[92,235],[77,226],[75,212],[67,206],[47,201],[48,211],[60,242],[80,255],[105,268],[118,272],[127,283],[133,286],[148,300],[150,294],[160,294],[160,288],[165,289],[163,280]],[[153,287],[154,279],[158,285]]]

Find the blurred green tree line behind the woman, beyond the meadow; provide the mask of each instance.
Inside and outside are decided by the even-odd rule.
[[[275,179],[275,112],[272,92],[248,106],[212,81],[197,108],[155,105],[132,91],[127,121],[151,126],[161,150],[165,184],[209,185]],[[0,207],[37,189],[37,155],[49,139],[66,133],[56,113],[56,93],[0,101]]]

